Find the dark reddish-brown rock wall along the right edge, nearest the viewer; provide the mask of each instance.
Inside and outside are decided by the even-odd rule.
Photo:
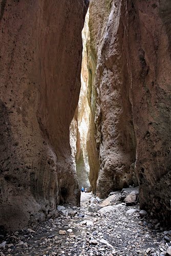
[[[137,139],[135,168],[140,183],[140,206],[170,223],[171,4],[134,1],[127,8],[129,27],[125,40]]]

